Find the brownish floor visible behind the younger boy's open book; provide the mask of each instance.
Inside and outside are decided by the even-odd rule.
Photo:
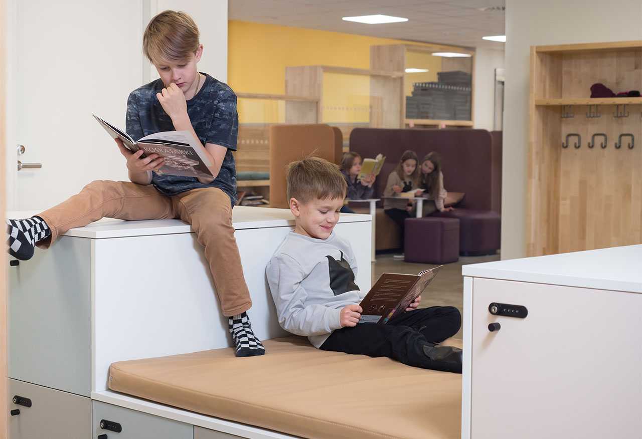
[[[432,268],[431,264],[405,263],[403,259],[394,259],[392,254],[377,255],[377,262],[372,264],[372,284],[379,279],[381,273],[412,273]],[[421,297],[421,307],[455,306],[464,312],[464,278],[462,265],[499,261],[499,254],[492,256],[460,257],[459,261],[446,264]],[[462,338],[462,330],[455,335]]]

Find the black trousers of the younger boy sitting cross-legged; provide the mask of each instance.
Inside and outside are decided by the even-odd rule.
[[[433,306],[406,311],[385,325],[359,323],[334,331],[320,349],[389,357],[404,365],[432,369],[433,362],[422,349],[452,337],[462,325],[462,314],[454,306]]]

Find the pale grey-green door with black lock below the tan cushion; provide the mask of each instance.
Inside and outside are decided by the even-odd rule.
[[[194,438],[194,427],[191,424],[112,406],[100,401],[92,401],[92,408],[92,438],[98,438],[100,435],[107,435],[109,439]],[[104,428],[101,428],[101,422]],[[117,431],[118,427],[121,431]]]

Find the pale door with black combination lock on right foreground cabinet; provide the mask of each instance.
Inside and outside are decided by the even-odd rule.
[[[641,314],[637,293],[475,278],[471,437],[639,437]]]

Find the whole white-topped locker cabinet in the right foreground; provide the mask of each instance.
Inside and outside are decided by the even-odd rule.
[[[463,273],[463,438],[642,437],[642,245]]]

